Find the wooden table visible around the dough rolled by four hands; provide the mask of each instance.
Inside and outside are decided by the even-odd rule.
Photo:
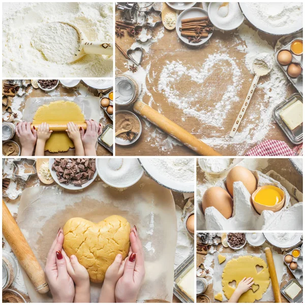
[[[3,80],[3,82],[6,82],[6,80]],[[92,93],[93,95],[95,95],[96,97],[99,96],[98,94],[98,90],[94,89],[92,87],[89,87],[88,85],[86,85],[84,82],[81,81],[81,84],[83,86],[86,87],[86,89]],[[25,106],[25,102],[27,99],[29,98],[37,98],[37,97],[54,97],[53,94],[49,95],[47,94],[44,90],[41,90],[40,88],[33,88],[32,92],[29,92],[30,89],[32,88],[32,85],[29,84],[26,88],[26,93],[28,95],[25,96],[24,100],[20,103],[20,107],[19,107],[19,111],[21,111],[23,113],[24,110],[24,106]],[[77,97],[80,95],[80,93],[78,92],[78,86],[75,86],[73,88],[67,88],[64,87],[60,82],[58,84],[58,86],[56,87],[56,90],[58,90],[59,88],[59,95],[58,97]],[[13,97],[9,97],[9,103],[7,106],[2,105],[2,111],[5,112],[5,110],[11,106],[12,104],[12,100]],[[22,120],[22,117],[18,117],[18,120]],[[17,121],[13,121],[13,123],[16,125]],[[100,118],[100,123],[103,124],[103,126],[106,126],[107,124],[113,124],[112,120],[108,117],[108,115],[106,113],[104,113],[104,117]],[[19,146],[20,145],[20,141],[19,138],[17,137],[17,135],[15,134],[14,137],[12,138],[13,141],[17,142]],[[45,151],[45,156],[71,156],[75,154],[75,150],[71,149],[68,151],[64,151],[62,153],[50,153],[49,151]],[[112,156],[112,154],[110,153],[110,151],[108,151],[106,148],[104,148],[102,145],[98,144],[98,148],[97,148],[97,155],[98,156]]]

